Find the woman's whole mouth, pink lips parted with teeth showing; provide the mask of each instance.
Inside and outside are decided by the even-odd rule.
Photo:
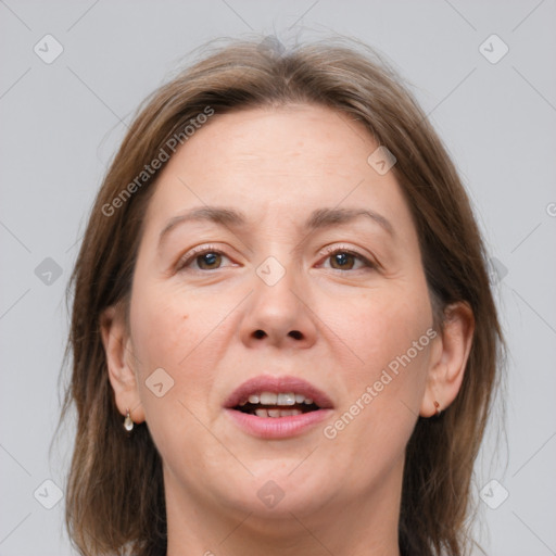
[[[279,439],[320,422],[333,405],[325,392],[304,379],[260,376],[237,388],[224,408],[249,434]]]

